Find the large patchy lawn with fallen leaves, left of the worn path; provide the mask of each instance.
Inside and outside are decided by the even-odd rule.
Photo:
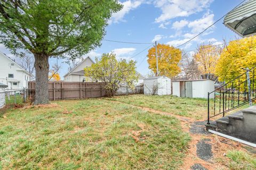
[[[102,99],[11,109],[0,169],[179,169],[189,135],[177,118]]]

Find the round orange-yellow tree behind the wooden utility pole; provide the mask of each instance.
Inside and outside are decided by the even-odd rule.
[[[181,60],[181,50],[170,45],[158,44],[158,74],[166,75],[174,78],[181,72],[179,62]],[[156,48],[152,47],[148,50],[149,69],[156,73]]]

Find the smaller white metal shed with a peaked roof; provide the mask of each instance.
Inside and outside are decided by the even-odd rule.
[[[165,76],[144,79],[145,95],[171,95],[171,79]]]

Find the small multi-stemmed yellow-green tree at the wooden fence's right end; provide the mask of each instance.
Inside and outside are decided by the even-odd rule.
[[[94,81],[103,82],[105,85],[106,95],[114,96],[119,88],[131,87],[138,80],[136,67],[133,60],[116,60],[113,53],[103,54],[99,59],[96,57],[96,63],[84,69],[85,76]]]

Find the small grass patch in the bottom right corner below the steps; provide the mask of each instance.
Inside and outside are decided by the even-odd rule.
[[[230,169],[256,169],[256,157],[239,150],[231,150],[227,153],[230,159]]]

